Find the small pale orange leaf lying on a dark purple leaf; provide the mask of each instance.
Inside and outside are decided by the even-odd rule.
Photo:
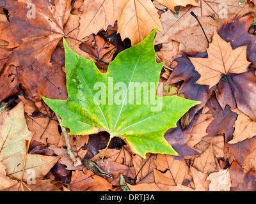
[[[232,50],[230,43],[216,32],[207,48],[208,58],[189,57],[195,70],[201,75],[196,84],[209,85],[209,89],[218,84],[223,75],[243,73],[251,62],[246,59],[246,46]]]

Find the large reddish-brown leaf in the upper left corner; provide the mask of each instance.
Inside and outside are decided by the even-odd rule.
[[[19,78],[19,83],[34,101],[40,101],[42,93],[49,97],[67,98],[65,74],[61,67],[53,66],[50,61],[56,45],[65,36],[63,25],[70,15],[70,2],[55,1],[55,6],[52,6],[47,0],[6,1],[4,5],[9,12],[9,20],[0,22],[0,36],[8,41],[7,48],[14,48],[6,64],[17,67],[12,75]],[[35,17],[28,16],[31,5],[35,7]],[[2,75],[6,76],[6,73]],[[6,79],[5,82],[10,84]],[[17,86],[18,82],[15,82],[13,84]],[[48,89],[42,89],[45,85]]]

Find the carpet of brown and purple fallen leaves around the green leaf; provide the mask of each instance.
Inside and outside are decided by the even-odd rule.
[[[72,1],[72,5],[70,1],[63,4],[57,0],[52,3],[44,1],[40,5],[39,1],[32,2],[36,4],[36,9],[40,8],[40,16],[26,22],[23,20],[29,29],[19,35],[17,30],[19,26],[24,26],[20,21],[26,17],[28,2],[6,1],[1,5],[4,10],[3,7],[0,10],[0,101],[8,103],[8,110],[0,116],[1,131],[15,121],[10,130],[23,127],[26,133],[18,131],[17,137],[25,136],[30,144],[28,154],[25,154],[25,138],[19,142],[20,149],[8,150],[8,153],[4,150],[5,145],[1,144],[1,191],[255,191],[256,57],[255,35],[252,34],[255,29],[252,25],[255,17],[253,5],[246,4],[241,10],[245,2],[241,5],[236,1],[228,2],[230,16],[223,20],[218,16],[219,5],[223,1],[215,2],[215,6],[212,1],[182,1],[184,4],[174,5],[175,1],[166,1],[166,4],[148,1],[143,9],[152,12],[152,19],[158,20],[156,24],[150,24],[147,18],[141,16],[141,22],[152,26],[148,26],[143,33],[141,22],[137,24],[137,30],[129,29],[136,23],[132,22],[132,17],[125,16],[125,10],[131,9],[134,17],[140,18],[144,11],[134,10],[134,4],[138,7],[140,1],[127,0],[126,8],[122,8],[124,5],[117,0],[97,2],[108,5],[98,6],[96,11],[108,11],[104,18],[110,19],[99,27],[92,25],[106,21],[102,20],[103,16],[97,17],[97,13],[95,18],[91,14],[86,16],[86,10],[90,8],[86,1]],[[119,7],[111,6],[113,2]],[[175,6],[180,8],[173,15],[170,10],[161,11],[159,3],[173,12]],[[118,12],[122,9],[124,14],[120,16]],[[15,13],[16,10],[19,12]],[[4,13],[6,11],[8,14]],[[161,15],[157,11],[161,11]],[[241,73],[226,70],[214,83],[200,82],[207,75],[200,73],[194,62],[209,61],[211,57],[209,52],[205,52],[209,49],[207,41],[195,18],[190,15],[191,11],[198,15],[211,42],[209,47],[217,35],[223,40],[221,45],[225,44],[224,41],[230,44],[229,57],[232,57],[234,50],[246,47],[242,57],[246,65]],[[237,13],[237,18],[228,23]],[[91,28],[83,25],[90,17]],[[127,24],[125,20],[130,20],[132,24]],[[45,29],[38,29],[36,24],[44,24]],[[102,73],[108,73],[108,64],[118,53],[144,40],[156,25],[159,28],[154,40],[159,57],[157,62],[166,63],[159,74],[159,81],[168,86],[168,89],[163,89],[164,97],[170,96],[170,92],[166,91],[174,87],[174,94],[201,101],[189,110],[184,120],[177,121],[176,128],[170,128],[164,134],[165,140],[179,156],[147,153],[143,158],[134,154],[127,141],[116,136],[111,138],[107,131],[95,131],[86,135],[68,135],[68,138],[74,155],[92,161],[101,174],[84,164],[74,166],[67,154],[58,119],[41,99],[42,96],[51,99],[68,97],[61,38],[65,37],[77,54],[93,59]],[[13,35],[8,34],[11,27]],[[127,35],[125,31],[129,31]],[[34,46],[29,51],[31,45]],[[38,58],[37,54],[46,47],[45,54]],[[220,50],[226,52],[225,48]],[[226,68],[225,62],[223,64]],[[212,74],[209,71],[209,80],[214,79]],[[2,132],[0,135],[6,138],[6,142],[11,139],[12,145],[12,135]],[[10,154],[14,150],[17,157]],[[6,162],[5,156],[10,162]],[[105,156],[103,161],[102,156]],[[16,172],[17,167],[19,172]],[[36,172],[35,184],[29,184],[27,180],[29,169]]]

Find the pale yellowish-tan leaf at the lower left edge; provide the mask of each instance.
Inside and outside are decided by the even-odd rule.
[[[25,157],[25,140],[31,140],[24,118],[23,103],[0,115],[0,161],[6,166],[6,175],[20,179]],[[42,179],[60,157],[28,154],[23,179],[29,177],[27,170],[35,170],[36,179]]]

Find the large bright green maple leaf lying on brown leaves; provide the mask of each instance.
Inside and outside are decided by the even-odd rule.
[[[163,63],[156,62],[155,34],[156,29],[138,45],[120,52],[106,74],[64,40],[68,98],[43,99],[60,115],[61,126],[69,128],[70,135],[108,131],[109,141],[118,136],[142,157],[147,152],[177,155],[163,135],[198,102],[157,96]]]

